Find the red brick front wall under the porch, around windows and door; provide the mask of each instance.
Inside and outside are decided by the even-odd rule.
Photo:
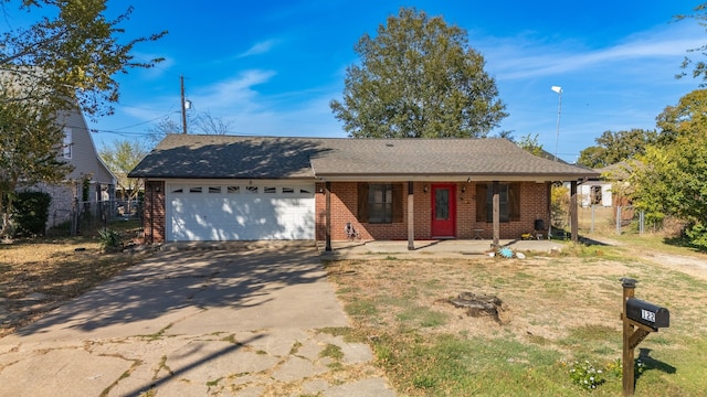
[[[428,192],[424,192],[425,186]],[[414,194],[414,234],[415,239],[432,238],[432,197],[431,183],[415,182]],[[325,191],[325,184],[317,184],[317,192]],[[482,236],[492,238],[493,224],[476,222],[476,185],[472,183],[456,183],[456,237],[468,239],[475,237],[474,229],[483,229]],[[500,238],[519,238],[524,233],[530,233],[535,219],[544,219],[547,225],[548,187],[546,183],[524,182],[520,186],[520,221],[500,224]],[[369,224],[358,222],[358,184],[356,182],[331,183],[331,239],[345,240],[345,227],[350,222],[360,233],[362,239],[394,240],[408,239],[408,183],[403,183],[403,222],[393,224]],[[318,240],[326,239],[326,194],[316,194],[316,236]]]

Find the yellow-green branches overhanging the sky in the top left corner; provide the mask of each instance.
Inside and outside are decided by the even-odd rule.
[[[11,2],[0,0],[2,4]],[[32,85],[41,89],[21,97],[2,97],[0,101],[41,103],[55,111],[77,101],[87,115],[112,114],[112,104],[119,99],[114,76],[134,67],[152,67],[161,61],[136,61],[134,46],[156,41],[167,32],[126,39],[119,24],[133,9],[108,20],[106,3],[107,0],[23,0],[20,11],[38,12],[38,19],[28,28],[2,33],[0,71],[29,76]],[[39,9],[45,11],[40,14]],[[3,11],[8,12],[4,7]]]

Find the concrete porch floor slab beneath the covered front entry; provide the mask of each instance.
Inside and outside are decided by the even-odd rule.
[[[317,242],[317,249],[323,259],[374,259],[394,256],[399,259],[410,258],[469,258],[485,256],[494,251],[493,242],[488,239],[444,239],[415,240],[414,249],[408,249],[408,242],[331,242],[331,251],[326,251],[324,242]],[[557,240],[500,240],[502,247],[509,247],[521,253],[560,251],[566,242]]]

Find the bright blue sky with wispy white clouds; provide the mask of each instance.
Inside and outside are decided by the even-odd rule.
[[[228,120],[233,133],[346,137],[329,101],[340,99],[354,45],[400,7],[443,15],[486,60],[509,117],[496,130],[538,135],[576,161],[605,130],[654,128],[655,117],[698,81],[675,79],[687,50],[707,43],[695,21],[673,23],[697,1],[183,1],[135,3],[128,35],[168,30],[136,47],[162,56],[119,76],[116,114],[89,122],[98,147],[140,139],[166,116],[180,120],[179,76],[196,112]],[[109,2],[112,10],[126,7]],[[697,56],[696,54],[692,54]]]

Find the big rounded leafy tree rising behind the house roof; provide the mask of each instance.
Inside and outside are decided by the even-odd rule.
[[[401,8],[355,46],[344,101],[330,107],[355,138],[486,137],[507,116],[466,31]]]

